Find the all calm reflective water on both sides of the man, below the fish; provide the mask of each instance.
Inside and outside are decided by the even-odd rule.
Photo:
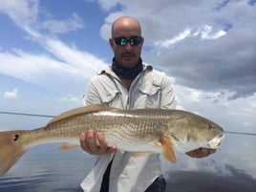
[[[255,192],[256,139],[227,135],[218,152],[195,160],[177,154],[162,160],[167,192]],[[58,144],[32,148],[0,178],[0,192],[82,192],[79,184],[94,157],[82,150],[60,152]]]

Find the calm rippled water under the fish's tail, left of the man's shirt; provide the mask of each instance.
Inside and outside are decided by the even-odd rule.
[[[92,169],[94,158],[81,150],[60,152],[56,144],[29,151],[0,178],[0,192],[75,191]]]

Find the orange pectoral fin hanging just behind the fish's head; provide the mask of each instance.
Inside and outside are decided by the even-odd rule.
[[[173,142],[171,139],[164,138],[161,140],[161,150],[163,157],[171,162],[176,162],[176,156],[174,152]]]

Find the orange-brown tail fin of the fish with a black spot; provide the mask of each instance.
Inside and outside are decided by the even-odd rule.
[[[0,132],[0,176],[4,175],[13,164],[27,151],[20,141],[25,131]]]

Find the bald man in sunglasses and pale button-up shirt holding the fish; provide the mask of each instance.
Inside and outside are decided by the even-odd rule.
[[[175,108],[169,78],[142,62],[143,41],[135,18],[123,16],[114,22],[109,39],[114,52],[112,66],[91,79],[84,96],[85,105],[104,103],[121,109]],[[81,134],[80,144],[83,150],[98,156],[94,169],[81,183],[84,191],[165,191],[159,154],[135,156],[119,151],[118,146],[107,146],[104,136],[93,130]],[[198,149],[187,154],[203,158],[214,152]]]

